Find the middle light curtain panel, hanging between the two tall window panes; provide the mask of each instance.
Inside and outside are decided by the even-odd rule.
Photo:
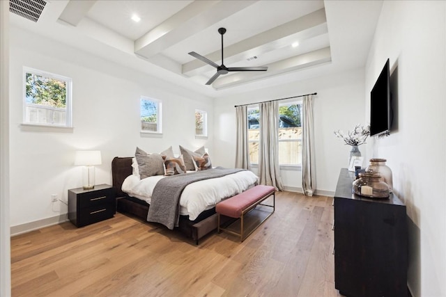
[[[277,101],[262,102],[259,107],[259,182],[282,191],[284,186],[279,170],[279,104]]]

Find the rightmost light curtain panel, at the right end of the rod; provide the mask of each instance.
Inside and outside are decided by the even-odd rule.
[[[316,189],[314,165],[313,95],[302,100],[302,191],[312,196]]]

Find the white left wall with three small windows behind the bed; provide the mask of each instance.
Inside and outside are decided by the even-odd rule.
[[[212,134],[194,136],[195,109],[208,112],[213,131],[211,99],[16,27],[10,35],[11,226],[66,219],[66,205],[53,204],[50,195],[66,201],[69,188],[82,186],[81,168],[73,166],[75,150],[102,152],[96,184],[111,184],[114,156],[132,156],[137,146],[160,152],[173,145],[178,153],[178,145],[205,145],[213,154]],[[24,66],[72,78],[73,129],[21,125]],[[141,95],[162,100],[161,137],[140,134]]]

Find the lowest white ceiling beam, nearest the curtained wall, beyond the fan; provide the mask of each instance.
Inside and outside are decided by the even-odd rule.
[[[222,88],[229,88],[236,86],[240,83],[246,83],[248,81],[254,81],[258,79],[264,79],[266,77],[277,76],[285,72],[291,72],[300,70],[305,67],[314,65],[321,65],[331,61],[330,47],[311,51],[307,54],[293,56],[291,58],[277,61],[268,65],[268,71],[266,72],[236,72],[231,75],[219,77],[212,84],[213,88],[220,90]]]

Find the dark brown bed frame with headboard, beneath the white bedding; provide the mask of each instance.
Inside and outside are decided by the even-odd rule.
[[[112,180],[116,191],[116,210],[147,221],[149,204],[137,198],[132,198],[121,190],[124,179],[129,175],[132,175],[132,157],[114,157],[112,161]],[[214,207],[203,211],[196,220],[189,220],[189,216],[180,216],[176,229],[194,240],[198,245],[199,239],[217,230],[217,224],[217,214]]]

